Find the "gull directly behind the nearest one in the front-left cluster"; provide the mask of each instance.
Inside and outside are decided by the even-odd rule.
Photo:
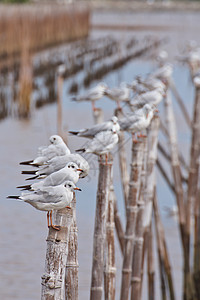
[[[80,172],[82,172],[82,170],[78,168],[77,164],[73,162],[69,162],[64,168],[48,175],[44,180],[41,180],[39,182],[30,185],[18,186],[17,188],[21,188],[24,190],[34,190],[34,191],[43,190],[43,187],[59,185],[66,180],[70,180],[76,184],[77,181],[79,180]],[[35,179],[35,177],[33,179]]]

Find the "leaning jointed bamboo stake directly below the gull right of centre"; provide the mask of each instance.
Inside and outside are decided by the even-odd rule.
[[[121,300],[129,299],[129,288],[132,273],[132,258],[133,258],[133,238],[135,234],[135,224],[137,216],[137,205],[140,192],[140,179],[142,171],[144,153],[144,143],[138,142],[132,145],[132,162],[131,174],[129,182],[129,197],[126,207],[126,232],[124,242],[124,258],[122,267],[122,280],[121,280]]]

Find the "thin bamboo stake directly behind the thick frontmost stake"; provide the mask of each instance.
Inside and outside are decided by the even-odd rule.
[[[78,229],[76,224],[76,196],[71,202],[73,222],[70,227],[68,256],[65,271],[65,299],[78,300]]]

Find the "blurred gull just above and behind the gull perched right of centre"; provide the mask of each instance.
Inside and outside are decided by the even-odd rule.
[[[155,90],[135,96],[132,101],[129,102],[129,106],[132,111],[135,111],[136,109],[143,107],[145,104],[158,105],[164,96],[165,91],[162,88],[157,88]]]

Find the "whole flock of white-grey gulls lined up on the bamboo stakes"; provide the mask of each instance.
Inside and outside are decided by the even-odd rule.
[[[85,178],[89,173],[87,160],[78,154],[93,153],[98,156],[107,154],[118,143],[118,134],[126,131],[132,134],[133,142],[144,137],[142,131],[148,128],[157,111],[157,105],[166,95],[167,85],[172,74],[172,66],[165,64],[146,78],[137,77],[131,84],[122,83],[119,87],[109,89],[103,82],[90,89],[81,96],[74,97],[77,102],[89,101],[92,109],[96,110],[95,102],[106,96],[117,103],[124,102],[130,113],[118,119],[113,116],[107,122],[94,125],[91,128],[69,131],[71,135],[88,139],[84,148],[71,153],[63,139],[52,135],[48,146],[39,147],[37,157],[23,161],[20,164],[34,169],[24,170],[22,174],[29,175],[26,180],[36,180],[29,185],[20,185],[20,196],[8,196],[29,203],[38,210],[47,211],[47,224],[55,230],[59,226],[53,225],[52,211],[64,207],[70,209],[74,191],[80,190],[76,184],[79,179]],[[137,135],[140,133],[140,135]],[[101,162],[101,160],[100,160]]]

